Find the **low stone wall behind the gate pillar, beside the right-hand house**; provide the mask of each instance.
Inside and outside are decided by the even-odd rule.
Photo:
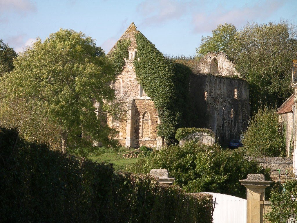
[[[263,168],[270,169],[270,175],[272,180],[279,180],[280,169],[280,179],[281,183],[285,183],[286,179],[293,178],[293,158],[292,157],[246,157],[247,160],[257,161]],[[287,171],[287,172],[286,172]]]

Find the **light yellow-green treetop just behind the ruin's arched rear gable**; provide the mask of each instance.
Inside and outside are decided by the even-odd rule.
[[[202,37],[201,45],[196,48],[198,57],[204,56],[208,52],[229,53],[232,49],[236,36],[236,27],[232,24],[219,24],[216,29],[212,31],[212,36]]]

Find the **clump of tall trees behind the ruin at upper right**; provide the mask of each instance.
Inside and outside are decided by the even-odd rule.
[[[229,31],[226,35],[222,30]],[[279,107],[291,92],[290,73],[297,51],[296,24],[248,23],[234,34],[235,31],[231,24],[220,24],[212,37],[204,39],[198,55],[223,50],[229,56],[249,82],[252,112],[257,112],[262,104],[273,106],[277,102]]]

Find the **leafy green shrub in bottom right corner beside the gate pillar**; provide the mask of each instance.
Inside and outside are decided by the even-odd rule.
[[[285,191],[274,189],[271,191],[271,212],[266,214],[266,218],[273,223],[287,222],[293,213],[297,213],[297,180],[287,180]],[[296,222],[292,221],[292,222]]]

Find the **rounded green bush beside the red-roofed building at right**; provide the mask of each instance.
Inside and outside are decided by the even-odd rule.
[[[242,142],[248,155],[285,156],[286,143],[276,110],[265,106],[253,116]]]

